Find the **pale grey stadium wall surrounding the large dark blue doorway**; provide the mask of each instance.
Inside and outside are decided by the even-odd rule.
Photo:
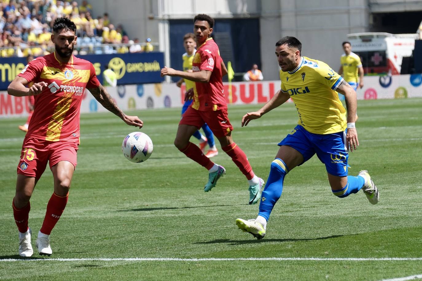
[[[341,42],[348,33],[368,31],[367,0],[114,0],[90,1],[94,15],[108,12],[111,21],[123,24],[131,38],[151,37],[165,53],[170,65],[168,21],[190,19],[207,13],[219,19],[259,18],[262,73],[265,80],[278,79],[279,66],[274,56],[275,43],[292,35],[303,43],[303,55],[322,60],[338,70],[343,53]],[[238,50],[234,50],[238,51]],[[181,55],[181,54],[180,54]],[[247,58],[245,58],[247,59]],[[246,63],[250,65],[254,62]]]

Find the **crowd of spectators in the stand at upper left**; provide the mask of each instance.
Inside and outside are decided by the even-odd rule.
[[[150,39],[129,40],[121,24],[116,27],[107,13],[93,18],[86,0],[2,0],[0,2],[0,57],[43,56],[54,50],[53,22],[66,16],[76,24],[75,53],[113,54],[152,51]],[[106,45],[104,45],[106,44]]]

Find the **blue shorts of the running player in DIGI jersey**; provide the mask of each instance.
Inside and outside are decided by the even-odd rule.
[[[299,166],[317,154],[329,174],[344,177],[347,176],[349,158],[346,133],[347,129],[334,134],[312,134],[298,125],[279,143],[279,146],[288,145],[298,150],[303,155],[303,162]]]

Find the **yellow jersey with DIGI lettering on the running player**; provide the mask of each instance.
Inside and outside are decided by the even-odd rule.
[[[281,91],[288,93],[299,114],[298,124],[313,134],[346,130],[346,109],[335,89],[343,81],[321,61],[303,56],[293,71],[281,71]]]

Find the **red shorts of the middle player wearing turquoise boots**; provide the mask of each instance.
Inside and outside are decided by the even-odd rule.
[[[179,125],[192,125],[199,130],[205,123],[216,137],[226,136],[233,131],[233,126],[227,116],[227,108],[215,111],[200,111],[188,107],[183,113]]]

